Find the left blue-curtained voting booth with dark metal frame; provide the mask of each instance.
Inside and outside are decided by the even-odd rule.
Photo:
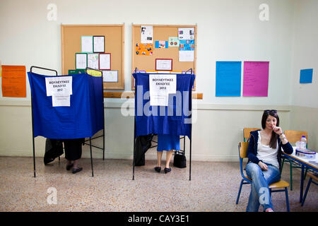
[[[33,157],[35,156],[34,138],[37,136],[51,139],[90,138],[93,176],[91,138],[98,131],[104,130],[105,120],[102,76],[90,76],[88,73],[68,75],[72,79],[69,106],[53,107],[53,97],[47,95],[45,83],[45,78],[52,76],[33,73],[33,68],[43,69],[33,66],[28,72],[32,97]],[[104,131],[102,136],[104,137]],[[104,151],[105,148],[102,149]]]

